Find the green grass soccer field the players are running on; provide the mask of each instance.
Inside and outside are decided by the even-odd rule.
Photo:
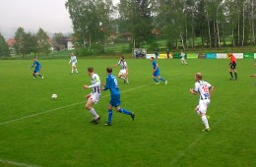
[[[111,127],[103,126],[109,92],[95,105],[101,120],[92,125],[85,108],[91,89],[83,84],[91,83],[88,67],[104,83],[105,68],[118,60],[79,59],[78,75],[69,74],[68,61],[39,60],[43,80],[32,79],[32,61],[0,61],[0,166],[255,166],[254,60],[237,60],[238,81],[229,81],[228,60],[158,60],[167,85],[153,82],[150,60],[127,60],[121,106],[136,117],[113,110]],[[215,86],[210,133],[202,133],[198,96],[189,93],[196,72]]]

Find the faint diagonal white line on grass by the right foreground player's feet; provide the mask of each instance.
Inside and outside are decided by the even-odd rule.
[[[249,95],[251,95],[254,91],[251,91]],[[242,100],[240,100],[238,103],[236,103],[236,105],[242,103],[244,100],[246,100],[248,98],[249,95],[246,95]],[[234,110],[234,108],[236,108],[236,105],[231,109],[229,110],[227,113],[224,114],[224,116],[226,115],[229,115],[229,113],[231,111]],[[222,117],[224,118],[224,117]],[[212,127],[216,127],[218,126],[218,124],[221,122],[222,120],[219,119],[217,122],[215,122],[213,124]],[[211,133],[211,132],[210,132]],[[191,142],[187,147],[185,147],[173,160],[170,161],[170,164],[169,166],[175,166],[175,164],[179,161],[179,159],[183,156],[185,156],[185,154],[195,145],[197,144],[197,142],[201,139],[203,139],[208,133],[203,133],[202,135],[199,136],[199,138],[195,139],[193,142]]]

